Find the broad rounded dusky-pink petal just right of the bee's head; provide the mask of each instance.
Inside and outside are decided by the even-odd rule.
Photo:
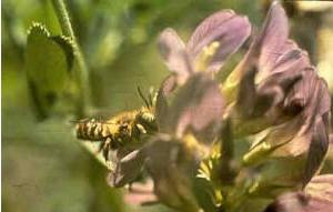
[[[192,75],[179,90],[170,105],[168,124],[178,138],[188,130],[194,133],[213,135],[224,109],[224,100],[219,84],[206,74]]]

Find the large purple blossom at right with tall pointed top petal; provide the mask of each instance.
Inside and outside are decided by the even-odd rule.
[[[287,37],[286,14],[274,2],[261,33],[226,82],[239,83],[232,114],[235,134],[269,129],[252,150],[265,143],[272,157],[306,155],[306,184],[327,151],[331,100],[307,53]]]

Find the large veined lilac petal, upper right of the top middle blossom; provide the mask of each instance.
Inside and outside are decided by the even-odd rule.
[[[219,48],[209,64],[209,71],[218,71],[224,60],[246,40],[250,32],[248,18],[236,16],[232,10],[223,10],[208,17],[199,24],[186,49],[194,61],[205,47],[214,41],[219,42]]]

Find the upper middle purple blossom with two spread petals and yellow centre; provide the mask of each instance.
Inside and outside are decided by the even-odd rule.
[[[246,40],[250,31],[248,18],[232,10],[222,10],[203,20],[186,44],[173,29],[165,29],[160,36],[159,48],[169,70],[175,73],[178,82],[183,83],[193,72],[202,71],[202,62],[206,63],[204,71],[219,71],[225,59]],[[208,48],[213,55],[209,61],[202,61]]]

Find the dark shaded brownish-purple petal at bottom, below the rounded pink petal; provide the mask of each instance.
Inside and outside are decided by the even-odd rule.
[[[167,134],[158,134],[144,147],[144,153],[159,200],[179,211],[199,211],[191,182],[196,162],[184,144]]]

